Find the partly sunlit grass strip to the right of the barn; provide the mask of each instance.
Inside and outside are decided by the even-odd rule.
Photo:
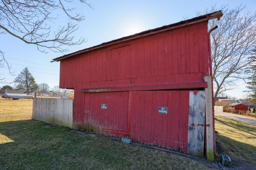
[[[226,116],[216,115],[216,140],[220,145],[219,152],[231,159],[255,163],[256,127]]]

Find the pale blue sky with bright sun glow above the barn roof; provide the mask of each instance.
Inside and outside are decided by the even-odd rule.
[[[79,29],[75,32],[76,38],[85,37],[86,43],[69,47],[69,54],[83,48],[117,39],[123,36],[135,34],[148,29],[154,29],[170,23],[193,18],[196,12],[203,11],[211,5],[220,7],[229,5],[229,8],[246,5],[245,12],[254,12],[256,1],[88,1],[93,9],[86,5],[73,3],[76,13],[82,14],[85,19],[78,23]],[[65,25],[68,18],[63,13],[58,13],[58,19],[53,23],[52,28]],[[4,34],[0,37],[0,50],[5,53],[5,57],[14,71],[13,76],[9,74],[7,67],[0,68],[1,77],[5,77],[6,83],[13,82],[19,72],[28,67],[29,71],[39,84],[48,83],[50,87],[59,84],[59,62],[50,61],[53,58],[62,56],[61,53],[41,53],[37,47],[26,44],[23,41]],[[0,87],[6,85],[0,83]],[[13,86],[14,84],[9,84]],[[225,92],[228,96],[244,98],[246,84],[238,82],[237,88]]]

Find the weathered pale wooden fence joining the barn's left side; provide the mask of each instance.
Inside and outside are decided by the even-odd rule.
[[[34,98],[33,119],[73,128],[73,100]]]

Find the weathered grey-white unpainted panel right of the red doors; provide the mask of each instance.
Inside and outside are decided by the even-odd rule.
[[[204,156],[205,91],[189,91],[187,153]]]

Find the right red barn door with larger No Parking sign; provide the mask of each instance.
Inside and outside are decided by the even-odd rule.
[[[132,91],[131,138],[186,153],[189,91]],[[167,107],[168,113],[158,113]]]

